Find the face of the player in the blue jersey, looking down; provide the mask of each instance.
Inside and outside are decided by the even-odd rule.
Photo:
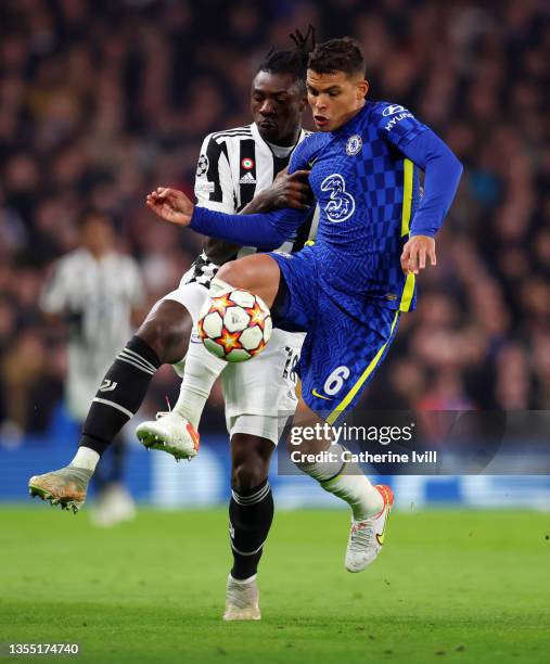
[[[318,74],[307,71],[307,101],[320,131],[334,131],[345,125],[364,105],[369,84],[362,76],[344,72]]]

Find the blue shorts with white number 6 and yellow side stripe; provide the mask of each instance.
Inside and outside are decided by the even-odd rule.
[[[336,292],[321,286],[314,253],[307,247],[269,254],[284,280],[272,316],[283,330],[307,332],[297,367],[302,398],[333,424],[372,380],[397,331],[399,311],[370,301],[360,318],[351,316]]]

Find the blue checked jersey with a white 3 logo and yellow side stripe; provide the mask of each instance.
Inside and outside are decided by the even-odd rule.
[[[315,245],[320,285],[350,314],[366,302],[414,308],[414,276],[399,257],[420,201],[419,169],[400,148],[427,127],[400,105],[367,102],[343,127],[296,149],[290,173],[310,168],[320,208]]]

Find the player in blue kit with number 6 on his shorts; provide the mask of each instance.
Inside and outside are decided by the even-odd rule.
[[[309,56],[308,101],[319,131],[298,145],[289,173],[310,169],[321,215],[314,246],[269,253],[299,227],[302,210],[236,216],[194,207],[172,189],[148,196],[149,207],[169,221],[268,252],[222,266],[210,293],[245,289],[266,302],[276,324],[307,332],[295,424],[332,425],[356,404],[387,353],[400,314],[415,306],[415,274],[427,259],[436,263],[434,235],[462,173],[447,145],[409,111],[366,99],[364,72],[360,47],[347,37],[318,44]],[[419,169],[425,174],[422,194]],[[300,450],[329,445],[321,436]],[[350,463],[297,465],[349,503],[346,567],[361,571],[380,552],[389,487],[372,486]]]

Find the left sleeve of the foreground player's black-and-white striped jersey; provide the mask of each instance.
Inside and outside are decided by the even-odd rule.
[[[208,135],[202,144],[196,164],[195,196],[200,207],[232,214],[235,194],[226,143]]]

